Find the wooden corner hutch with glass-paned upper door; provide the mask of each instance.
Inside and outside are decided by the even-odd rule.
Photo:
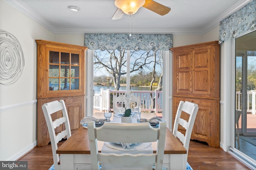
[[[42,147],[50,142],[42,111],[44,103],[64,100],[71,130],[80,127],[85,110],[85,51],[88,48],[44,40],[36,40],[36,43],[37,142]],[[57,114],[62,113],[56,112],[52,118]]]

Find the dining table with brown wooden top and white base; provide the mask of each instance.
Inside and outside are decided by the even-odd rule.
[[[104,142],[98,141],[99,152],[103,145]],[[155,153],[157,142],[153,142],[151,145]],[[186,170],[186,162],[183,161],[186,152],[182,143],[166,128],[164,167],[167,167],[168,170]],[[60,154],[61,170],[92,170],[88,131],[85,127],[80,127],[74,132],[58,147],[56,153]]]

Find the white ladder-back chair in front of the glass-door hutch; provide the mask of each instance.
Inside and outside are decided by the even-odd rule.
[[[60,170],[60,158],[59,155],[56,154],[56,150],[58,149],[58,143],[64,137],[67,139],[71,136],[70,131],[70,123],[68,119],[68,113],[63,100],[58,102],[57,100],[45,103],[42,106],[44,117],[46,120],[47,128],[50,135],[50,141],[52,145],[52,156],[54,162],[54,170]],[[53,113],[56,113],[52,116]],[[52,117],[55,119],[52,120]],[[58,128],[60,131],[57,135],[55,129]]]

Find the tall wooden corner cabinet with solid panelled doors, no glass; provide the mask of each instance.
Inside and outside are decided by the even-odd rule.
[[[174,124],[179,102],[198,104],[191,139],[220,147],[220,46],[218,41],[171,48]],[[184,115],[184,119],[188,115]],[[182,129],[182,127],[179,127]]]

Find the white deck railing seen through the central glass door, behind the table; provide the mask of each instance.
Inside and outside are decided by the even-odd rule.
[[[100,91],[94,92],[94,104],[93,108],[95,110],[103,111],[104,109],[113,108],[113,95],[119,96],[120,94],[124,94],[126,91],[119,90],[104,90],[100,89]],[[132,91],[134,96],[140,96],[140,107],[141,111],[155,111],[155,113],[162,112],[162,91],[154,90],[154,91]],[[152,96],[152,97],[151,97]],[[157,97],[158,96],[158,97]],[[153,100],[155,98],[155,100]],[[155,102],[153,108],[153,102]]]

